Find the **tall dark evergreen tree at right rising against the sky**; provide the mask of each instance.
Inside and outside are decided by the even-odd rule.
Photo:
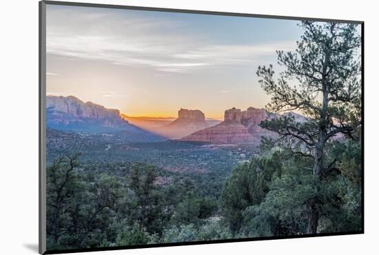
[[[325,162],[325,145],[335,136],[354,138],[360,126],[361,63],[360,33],[356,24],[303,21],[304,30],[295,52],[277,51],[278,64],[285,70],[274,78],[272,65],[259,66],[263,90],[272,96],[269,112],[296,111],[307,116],[296,122],[293,116],[263,121],[263,128],[287,141],[294,154],[310,157],[314,176],[322,178],[336,161]],[[320,189],[315,187],[316,194]],[[316,196],[309,201],[307,232],[318,226]]]

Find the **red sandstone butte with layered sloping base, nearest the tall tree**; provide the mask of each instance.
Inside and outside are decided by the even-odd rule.
[[[245,111],[232,108],[225,110],[224,121],[184,137],[181,141],[208,143],[259,143],[261,136],[272,136],[260,128],[261,121],[269,118],[264,109],[247,108]]]

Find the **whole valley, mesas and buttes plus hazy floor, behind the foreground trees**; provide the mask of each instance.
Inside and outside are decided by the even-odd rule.
[[[48,96],[48,163],[80,152],[85,164],[148,163],[171,173],[229,174],[258,151],[265,110],[225,110],[224,121],[201,110],[173,118],[130,118],[74,96]],[[96,132],[95,132],[96,131]]]

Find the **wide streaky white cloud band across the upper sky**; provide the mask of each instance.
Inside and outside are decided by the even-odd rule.
[[[217,45],[209,41],[209,35],[186,33],[181,22],[136,16],[135,12],[50,8],[47,13],[48,54],[147,67],[158,72],[186,73],[221,65],[247,65],[276,54],[276,50],[295,48],[294,42],[285,41]]]

